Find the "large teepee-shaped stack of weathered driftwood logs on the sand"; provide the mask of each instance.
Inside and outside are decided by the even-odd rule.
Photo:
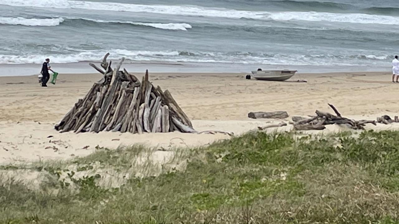
[[[60,132],[196,132],[188,116],[168,90],[154,87],[148,71],[140,82],[126,69],[119,71],[124,58],[115,69],[107,62],[103,69],[89,65],[104,75],[93,84],[85,98],[79,99],[55,129]]]

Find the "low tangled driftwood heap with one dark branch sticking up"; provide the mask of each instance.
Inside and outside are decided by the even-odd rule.
[[[352,129],[364,130],[365,124],[371,123],[377,125],[375,120],[356,121],[342,117],[340,112],[338,112],[338,110],[332,104],[328,105],[332,108],[332,110],[334,110],[336,115],[316,110],[316,116],[312,116],[310,118],[293,117],[292,120],[294,121],[294,129],[323,130],[326,128],[326,125],[329,124],[345,124],[346,126]]]

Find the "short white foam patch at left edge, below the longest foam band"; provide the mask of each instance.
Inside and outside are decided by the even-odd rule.
[[[63,18],[51,19],[27,19],[22,17],[0,17],[0,24],[23,25],[23,26],[58,26],[64,21]]]

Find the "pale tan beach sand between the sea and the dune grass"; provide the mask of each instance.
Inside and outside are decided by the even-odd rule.
[[[116,148],[141,143],[156,150],[205,145],[229,138],[222,134],[178,132],[60,134],[53,129],[54,124],[101,76],[59,74],[58,77],[57,84],[49,84],[48,88],[40,87],[36,76],[0,77],[0,164],[84,156],[95,151],[97,145]],[[297,83],[297,79],[306,79],[308,83]],[[247,114],[251,111],[286,110],[290,115],[306,116],[314,114],[316,109],[330,111],[327,103],[331,103],[350,118],[375,119],[383,114],[399,114],[399,84],[391,83],[390,79],[390,73],[299,74],[287,82],[245,80],[245,74],[150,74],[155,85],[170,90],[193,120],[196,130],[235,134],[279,122],[249,119]],[[290,126],[280,129],[289,130]],[[341,129],[344,128],[329,127],[329,130]]]

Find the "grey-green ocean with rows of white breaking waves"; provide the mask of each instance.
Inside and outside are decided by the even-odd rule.
[[[14,67],[109,52],[132,65],[198,71],[389,71],[399,1],[0,0],[0,31],[0,64]]]

